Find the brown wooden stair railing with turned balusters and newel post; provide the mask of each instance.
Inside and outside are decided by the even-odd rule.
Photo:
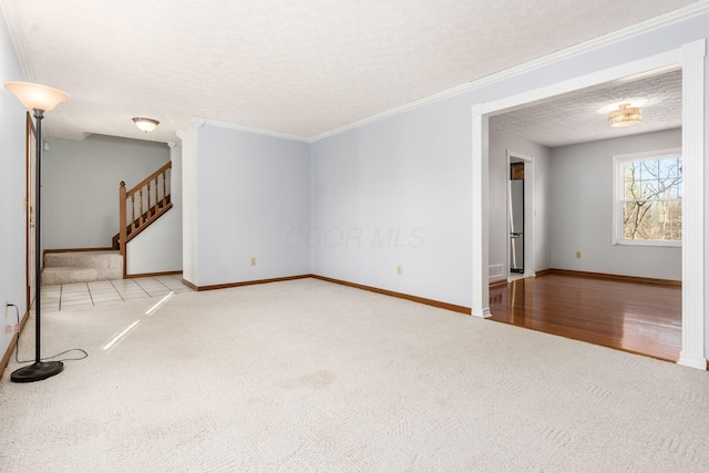
[[[169,195],[169,176],[172,162],[126,191],[125,182],[120,187],[120,223],[119,235],[114,237],[123,255],[123,273],[125,276],[125,247],[130,240],[147,228],[161,215],[173,206]],[[115,241],[117,239],[117,241]]]

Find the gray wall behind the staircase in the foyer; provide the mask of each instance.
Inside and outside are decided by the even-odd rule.
[[[164,143],[102,135],[47,141],[50,148],[42,155],[45,249],[111,246],[119,233],[121,181],[131,188],[169,161]]]

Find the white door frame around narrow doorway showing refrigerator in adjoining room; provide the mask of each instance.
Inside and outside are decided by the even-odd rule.
[[[516,160],[516,161],[513,161]],[[534,156],[507,150],[507,173],[512,163],[524,163],[524,274],[525,278],[536,276],[535,251],[534,251],[534,220],[536,218],[534,207]],[[510,254],[510,199],[512,183],[507,175],[507,281],[510,280],[510,268],[512,255]]]

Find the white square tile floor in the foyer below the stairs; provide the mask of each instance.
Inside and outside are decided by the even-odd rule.
[[[192,289],[182,284],[182,275],[167,275],[43,286],[41,291],[42,310],[58,311],[130,299],[160,298],[171,291],[179,294]]]

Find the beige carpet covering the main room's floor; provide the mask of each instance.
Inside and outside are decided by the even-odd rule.
[[[154,304],[45,313],[90,357],[6,370],[0,471],[709,471],[702,371],[314,279]]]

